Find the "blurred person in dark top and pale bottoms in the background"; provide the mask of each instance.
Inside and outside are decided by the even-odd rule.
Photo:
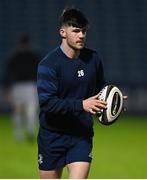
[[[34,139],[38,109],[38,61],[38,54],[31,48],[30,36],[27,33],[21,34],[16,52],[8,60],[4,80],[6,96],[12,105],[14,132],[18,141],[24,138],[25,129],[28,139]]]

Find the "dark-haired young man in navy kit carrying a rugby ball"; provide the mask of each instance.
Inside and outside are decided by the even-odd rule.
[[[98,100],[104,86],[103,67],[96,51],[84,47],[88,20],[77,9],[63,11],[62,43],[38,67],[40,178],[87,178],[92,160],[92,115],[106,102]]]

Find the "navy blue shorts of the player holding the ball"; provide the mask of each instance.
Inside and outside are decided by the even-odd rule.
[[[91,162],[92,137],[83,138],[40,128],[38,164],[40,170],[55,170],[72,162]]]

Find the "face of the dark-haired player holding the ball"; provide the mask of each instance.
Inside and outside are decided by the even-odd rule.
[[[84,47],[85,44],[86,30],[86,28],[66,26],[62,29],[63,36],[61,36],[65,39],[69,47],[75,50],[80,50]]]

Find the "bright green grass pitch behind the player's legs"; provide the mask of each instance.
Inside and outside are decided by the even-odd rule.
[[[111,126],[95,121],[94,131],[89,178],[147,178],[147,117],[121,116]],[[15,142],[10,117],[1,116],[0,178],[39,178],[37,166],[36,142]]]

